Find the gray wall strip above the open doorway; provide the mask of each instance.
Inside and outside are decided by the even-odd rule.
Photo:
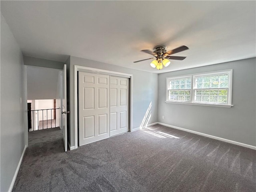
[[[58,61],[52,61],[47,59],[23,56],[24,64],[37,66],[37,67],[47,67],[47,68],[54,68],[54,69],[61,69],[64,66],[64,63]]]

